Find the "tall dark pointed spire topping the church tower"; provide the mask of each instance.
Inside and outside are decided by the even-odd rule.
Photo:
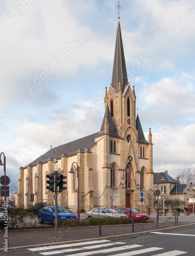
[[[114,65],[112,72],[112,85],[118,91],[118,81],[120,80],[121,90],[124,91],[125,86],[128,83],[127,78],[127,69],[125,63],[125,55],[123,50],[123,41],[120,31],[120,22],[118,19],[118,27],[116,34],[116,45],[115,45],[115,53],[114,53]]]

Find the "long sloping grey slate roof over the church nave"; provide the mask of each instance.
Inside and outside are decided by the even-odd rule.
[[[88,135],[86,137],[83,137],[78,140],[74,140],[71,142],[68,142],[66,144],[63,144],[61,146],[57,146],[52,148],[51,150],[47,151],[42,156],[35,159],[33,162],[31,162],[31,165],[36,165],[38,162],[47,162],[50,158],[60,158],[63,154],[66,154],[67,156],[76,154],[80,149],[87,150],[90,147],[92,147],[94,142],[94,137],[97,133]]]

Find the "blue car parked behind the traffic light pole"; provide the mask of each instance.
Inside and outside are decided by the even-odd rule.
[[[64,207],[58,207],[58,220],[77,220],[78,217],[75,214],[72,214],[69,210]],[[38,214],[39,223],[51,222],[55,224],[55,207],[54,206],[45,206],[39,210]]]

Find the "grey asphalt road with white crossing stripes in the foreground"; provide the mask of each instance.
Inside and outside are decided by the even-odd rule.
[[[135,234],[113,239],[96,239],[77,243],[60,244],[10,250],[9,255],[112,255],[112,256],[194,256],[194,225],[163,231]],[[1,252],[1,255],[7,255]]]

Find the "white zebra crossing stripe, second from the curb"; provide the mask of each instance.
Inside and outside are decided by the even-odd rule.
[[[68,248],[68,249],[57,250],[57,251],[40,252],[40,254],[42,254],[42,255],[54,255],[54,254],[59,254],[59,253],[64,253],[64,252],[91,250],[91,249],[96,249],[96,248],[100,248],[100,247],[108,247],[108,246],[120,245],[120,244],[126,244],[126,243],[114,242],[114,243],[101,244],[101,245],[98,244],[98,245],[84,246],[84,247],[78,247],[78,248]]]

